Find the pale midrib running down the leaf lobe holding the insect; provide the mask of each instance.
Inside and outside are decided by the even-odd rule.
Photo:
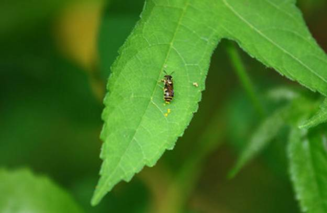
[[[173,49],[173,43],[174,43],[174,41],[175,41],[177,31],[178,31],[179,27],[181,26],[181,20],[182,20],[182,18],[184,17],[185,12],[186,12],[187,8],[189,7],[189,4],[190,4],[190,0],[186,1],[185,6],[184,6],[184,8],[182,9],[182,13],[181,13],[180,17],[178,18],[178,21],[177,21],[177,25],[176,25],[176,29],[175,29],[174,35],[173,35],[173,37],[172,37],[172,40],[171,40],[170,43],[169,43],[169,49],[168,49],[168,51],[167,51],[167,55],[166,55],[166,58],[165,58],[164,64],[162,64],[162,67],[161,67],[161,69],[160,69],[159,76],[158,76],[158,79],[157,79],[157,80],[160,79],[160,76],[162,75],[162,72],[164,71],[165,64],[167,63],[168,58],[169,58],[169,55],[170,55],[170,52],[171,52],[171,50]],[[181,8],[180,8],[180,9],[181,9]],[[158,82],[158,81],[157,81],[157,82]],[[126,149],[124,150],[123,154],[121,155],[121,157],[120,157],[118,163],[116,164],[115,168],[113,169],[112,173],[109,175],[108,178],[106,178],[104,185],[108,185],[108,183],[110,182],[110,178],[111,178],[112,175],[115,173],[115,171],[118,169],[118,167],[119,167],[119,165],[120,165],[120,163],[121,163],[121,160],[122,160],[123,156],[125,155],[126,151],[129,149],[129,147],[130,147],[130,145],[131,145],[131,141],[133,141],[133,140],[135,139],[135,134],[136,134],[136,132],[138,131],[139,127],[141,126],[141,123],[142,123],[142,121],[143,121],[143,117],[144,117],[145,113],[147,112],[147,110],[148,110],[148,108],[149,108],[151,102],[153,102],[152,100],[153,100],[154,94],[155,94],[156,89],[157,89],[157,84],[158,84],[158,83],[156,83],[155,86],[154,86],[154,88],[153,88],[153,92],[152,92],[152,95],[151,95],[151,97],[150,97],[149,103],[148,103],[146,109],[145,109],[144,112],[143,112],[143,115],[142,115],[142,117],[141,117],[141,120],[139,121],[139,124],[138,124],[137,128],[136,128],[135,131],[134,131],[134,134],[133,134],[132,139],[129,141],[129,144],[127,145]],[[102,194],[103,194],[105,191],[106,191],[106,190],[105,190],[105,187],[102,187],[102,188],[100,189],[99,193],[97,193],[98,196],[96,196],[96,197],[94,198],[94,200],[97,201],[97,200],[99,199],[99,196],[102,196]]]

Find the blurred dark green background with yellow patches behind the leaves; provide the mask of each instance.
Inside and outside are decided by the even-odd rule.
[[[233,70],[226,40],[214,53],[199,111],[175,149],[90,206],[101,164],[105,84],[143,4],[1,3],[0,167],[48,176],[85,212],[299,212],[283,135],[236,178],[226,178],[261,119]],[[298,6],[326,50],[327,2],[302,0]],[[240,53],[262,99],[278,85],[299,87]],[[268,113],[274,109],[264,103]]]

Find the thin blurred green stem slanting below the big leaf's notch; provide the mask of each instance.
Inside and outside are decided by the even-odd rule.
[[[227,53],[229,55],[231,64],[239,77],[239,80],[245,89],[248,97],[252,101],[252,104],[256,110],[258,110],[259,114],[264,117],[265,116],[265,108],[259,100],[259,94],[255,92],[253,84],[251,82],[250,77],[248,76],[245,66],[242,62],[241,56],[236,49],[235,45],[228,45]]]

